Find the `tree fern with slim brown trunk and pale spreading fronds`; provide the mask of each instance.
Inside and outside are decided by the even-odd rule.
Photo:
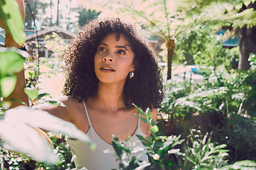
[[[174,1],[78,1],[87,8],[101,11],[100,16],[119,16],[139,25],[151,35],[156,35],[165,42],[167,52],[167,79],[171,79],[171,64],[174,57],[175,39],[196,26],[196,18],[186,18],[182,11],[177,11]],[[97,5],[95,5],[97,4]],[[114,8],[113,8],[114,6]],[[196,16],[195,16],[196,17]],[[145,34],[146,35],[146,34]]]

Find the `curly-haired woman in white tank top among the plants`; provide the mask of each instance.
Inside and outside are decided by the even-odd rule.
[[[132,103],[144,111],[150,108],[156,120],[163,85],[154,50],[119,18],[95,20],[78,33],[63,59],[67,76],[58,100],[66,109],[48,104],[38,108],[74,123],[96,143],[97,149],[90,151],[86,144],[68,140],[76,166],[116,169],[114,157],[103,153],[112,149],[112,135],[119,140],[150,135],[150,126],[134,114]],[[141,159],[147,160],[143,154]]]

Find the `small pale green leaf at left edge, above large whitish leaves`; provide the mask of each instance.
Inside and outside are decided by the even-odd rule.
[[[14,87],[17,81],[16,78],[17,77],[15,74],[9,75],[9,77],[0,77],[1,96],[8,97],[11,92],[14,91]]]

